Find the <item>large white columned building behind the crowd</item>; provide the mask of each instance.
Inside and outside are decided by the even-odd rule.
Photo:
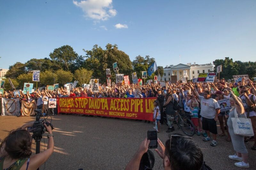
[[[187,70],[188,80],[197,78],[199,73],[208,73],[213,71],[213,64],[178,64],[178,65],[167,65],[164,68],[164,76],[162,81],[171,81],[171,76],[177,76],[177,80],[184,78],[183,71]]]

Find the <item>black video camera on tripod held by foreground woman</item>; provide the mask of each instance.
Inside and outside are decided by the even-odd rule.
[[[41,109],[35,109],[35,112],[37,113],[36,114],[36,121],[34,122],[33,126],[28,128],[28,131],[29,132],[33,132],[33,139],[35,139],[35,141],[41,141],[42,137],[43,137],[43,134],[44,132],[46,131],[45,129],[45,126],[44,126],[44,123],[47,125],[47,126],[51,126],[51,128],[53,129],[53,125],[49,122],[46,122],[46,118],[45,119],[45,115],[46,114],[42,114],[41,112]],[[43,117],[44,120],[40,120],[40,118]],[[51,118],[51,122],[52,122],[52,118]]]

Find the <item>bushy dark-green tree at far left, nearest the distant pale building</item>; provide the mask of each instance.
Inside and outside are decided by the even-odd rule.
[[[17,62],[9,67],[9,70],[6,72],[5,77],[17,78],[19,75],[25,74],[27,73],[27,71],[25,70],[25,67],[26,67],[26,64]]]

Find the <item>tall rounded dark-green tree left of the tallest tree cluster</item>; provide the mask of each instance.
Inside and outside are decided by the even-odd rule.
[[[56,48],[49,55],[54,63],[56,70],[63,69],[65,71],[71,70],[71,65],[75,63],[78,54],[69,45]]]

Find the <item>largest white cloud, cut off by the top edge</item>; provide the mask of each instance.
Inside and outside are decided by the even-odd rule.
[[[112,0],[85,0],[81,2],[73,0],[73,4],[82,8],[86,18],[104,21],[116,16],[117,13],[113,9]]]

